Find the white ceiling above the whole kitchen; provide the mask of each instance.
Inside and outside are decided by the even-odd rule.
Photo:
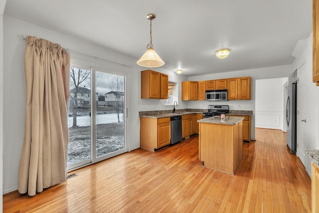
[[[312,32],[312,0],[7,0],[4,14],[138,60],[150,42],[187,76],[292,64]],[[229,48],[226,59],[215,52]]]

